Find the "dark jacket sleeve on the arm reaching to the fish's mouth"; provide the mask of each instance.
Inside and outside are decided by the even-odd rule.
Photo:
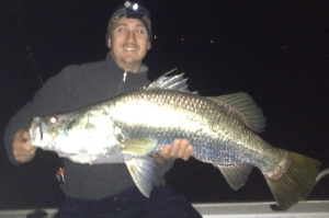
[[[12,153],[12,137],[20,129],[29,129],[30,123],[34,116],[45,116],[54,113],[60,113],[67,104],[69,96],[69,70],[64,69],[57,76],[50,78],[44,87],[38,90],[33,100],[21,108],[7,125],[3,142],[8,152],[10,162],[20,164]]]

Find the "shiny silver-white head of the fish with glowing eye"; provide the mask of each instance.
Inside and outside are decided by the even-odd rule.
[[[80,111],[34,117],[31,142],[76,162],[92,162],[117,145],[117,129],[107,114]]]

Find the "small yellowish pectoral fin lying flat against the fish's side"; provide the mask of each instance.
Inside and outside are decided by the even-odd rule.
[[[158,140],[151,138],[137,138],[125,140],[121,144],[120,149],[124,153],[132,156],[146,156],[157,146]]]

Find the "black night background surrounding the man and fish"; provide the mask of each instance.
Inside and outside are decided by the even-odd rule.
[[[44,82],[65,66],[105,58],[107,20],[123,2],[0,1],[1,141],[10,117],[39,89],[38,73]],[[262,138],[329,168],[329,1],[139,3],[149,9],[156,35],[144,61],[151,80],[178,68],[202,95],[247,92],[266,117]],[[56,154],[42,151],[14,167],[1,146],[0,161],[0,208],[60,204]],[[214,167],[193,159],[177,161],[167,181],[195,203],[273,200],[257,169],[238,192]],[[309,199],[329,199],[328,182]]]

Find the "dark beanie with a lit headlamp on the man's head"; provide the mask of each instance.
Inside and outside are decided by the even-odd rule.
[[[118,7],[110,16],[109,24],[107,24],[107,33],[105,36],[106,42],[109,39],[113,24],[123,16],[131,18],[131,19],[138,19],[145,25],[148,34],[148,41],[151,43],[152,39],[151,21],[150,21],[148,10],[139,5],[138,3],[132,3],[129,1],[126,1],[123,5]]]

